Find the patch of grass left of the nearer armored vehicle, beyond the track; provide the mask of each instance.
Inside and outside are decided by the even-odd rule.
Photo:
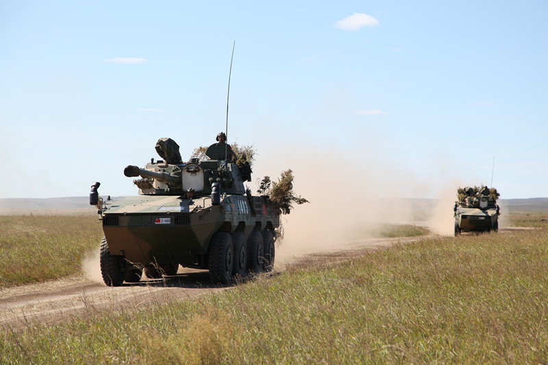
[[[0,227],[0,288],[81,273],[103,236],[92,215],[0,216]]]

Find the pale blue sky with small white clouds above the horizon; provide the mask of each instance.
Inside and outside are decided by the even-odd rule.
[[[548,197],[548,2],[0,1],[0,198],[136,194],[225,131],[253,179]],[[325,188],[322,184],[325,184]],[[319,194],[319,197],[322,195]]]

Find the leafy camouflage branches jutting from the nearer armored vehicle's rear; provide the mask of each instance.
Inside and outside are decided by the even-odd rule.
[[[297,203],[299,205],[310,203],[310,201],[300,195],[297,197],[293,192],[293,172],[291,169],[282,172],[282,175],[277,182],[271,181],[269,176],[265,176],[262,181],[260,181],[257,192],[259,194],[269,195],[273,204],[282,210],[282,214],[290,214],[293,209],[292,203]]]

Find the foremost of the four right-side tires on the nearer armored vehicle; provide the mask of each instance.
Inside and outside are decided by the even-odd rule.
[[[216,232],[211,238],[209,253],[210,278],[215,284],[230,284],[234,266],[232,239],[227,232]]]

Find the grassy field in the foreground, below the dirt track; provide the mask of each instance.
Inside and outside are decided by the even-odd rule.
[[[221,294],[0,333],[0,363],[545,363],[538,229],[427,238]],[[92,312],[92,311],[90,311]]]

